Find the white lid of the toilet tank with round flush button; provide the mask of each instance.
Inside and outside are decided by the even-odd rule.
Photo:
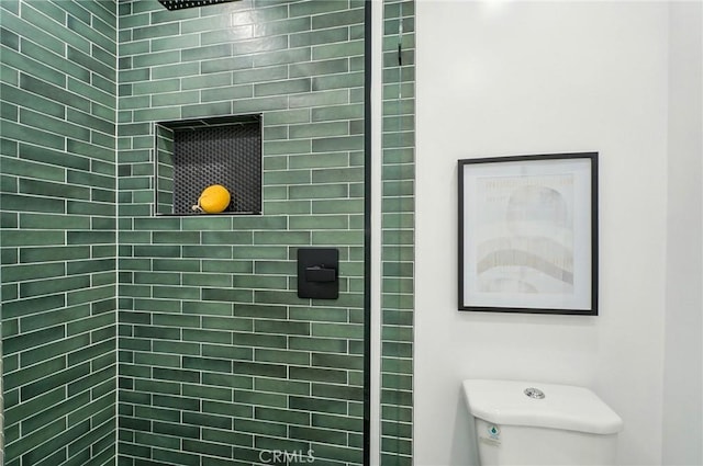
[[[525,394],[537,389],[544,398]],[[570,385],[520,380],[464,380],[473,417],[502,425],[531,425],[594,434],[623,430],[623,420],[593,391]]]

